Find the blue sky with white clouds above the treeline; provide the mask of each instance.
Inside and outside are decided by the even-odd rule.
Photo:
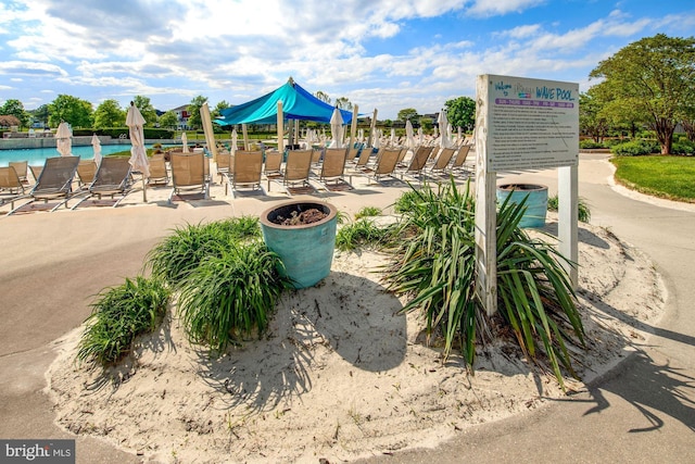
[[[693,0],[0,0],[0,104],[135,96],[240,104],[292,77],[359,113],[435,113],[482,74],[596,84],[644,37],[695,36]]]

